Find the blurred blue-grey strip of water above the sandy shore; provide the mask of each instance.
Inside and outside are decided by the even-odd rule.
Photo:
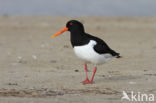
[[[7,16],[156,16],[156,0],[0,0]]]

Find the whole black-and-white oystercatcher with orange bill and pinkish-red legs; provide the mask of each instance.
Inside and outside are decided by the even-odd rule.
[[[84,61],[86,79],[83,84],[93,84],[93,79],[97,71],[97,65],[110,61],[113,57],[120,58],[120,54],[112,50],[102,39],[85,32],[83,24],[78,20],[69,20],[66,27],[53,34],[54,38],[65,31],[70,32],[70,42],[76,56]],[[91,79],[88,79],[87,64],[94,64]]]

